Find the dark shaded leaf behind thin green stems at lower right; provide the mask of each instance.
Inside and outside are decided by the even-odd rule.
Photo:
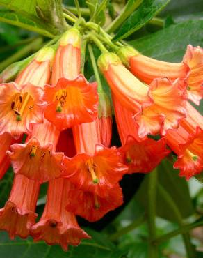
[[[177,169],[172,168],[172,163],[168,160],[163,160],[159,165],[158,175],[159,175],[159,184],[165,188],[165,190],[172,197],[175,204],[177,204],[181,216],[183,218],[187,218],[188,216],[193,214],[193,204],[190,199],[190,193],[188,190],[187,181],[179,177],[179,171]],[[148,176],[145,177],[145,181],[142,183],[136,198],[138,201],[143,204],[145,208],[147,208],[147,182]],[[158,188],[157,188],[158,189]],[[157,190],[156,195],[156,214],[161,218],[165,218],[166,220],[176,221],[176,216],[170,212],[170,207],[165,204],[165,199],[161,196],[159,190]]]

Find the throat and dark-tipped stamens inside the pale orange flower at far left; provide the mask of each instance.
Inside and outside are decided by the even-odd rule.
[[[29,93],[16,93],[10,104],[11,109],[16,115],[16,120],[21,121],[25,109],[33,109],[33,101]]]

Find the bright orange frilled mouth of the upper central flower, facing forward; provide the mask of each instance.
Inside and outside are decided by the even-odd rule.
[[[91,122],[97,117],[97,84],[88,83],[83,75],[76,79],[61,78],[56,86],[45,86],[48,105],[44,116],[58,130]]]

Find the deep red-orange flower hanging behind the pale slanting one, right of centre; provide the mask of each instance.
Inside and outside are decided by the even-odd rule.
[[[140,139],[133,115],[122,107],[114,95],[113,105],[117,129],[122,142],[120,152],[124,164],[129,167],[128,173],[151,172],[170,153],[166,148],[165,139],[159,139],[157,142],[147,137]]]

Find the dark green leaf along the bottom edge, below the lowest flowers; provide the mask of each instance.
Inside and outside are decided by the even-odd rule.
[[[87,230],[91,240],[82,241],[78,247],[71,247],[64,252],[60,246],[49,246],[44,242],[34,243],[31,238],[16,238],[10,241],[5,232],[0,234],[0,257],[6,258],[121,258],[123,251],[118,250],[106,236]]]

